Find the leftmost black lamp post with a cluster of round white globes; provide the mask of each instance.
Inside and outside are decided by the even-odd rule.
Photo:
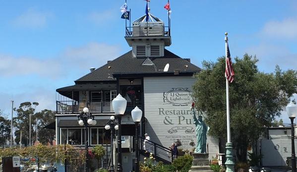
[[[85,129],[85,166],[84,172],[88,171],[88,124],[96,125],[96,120],[94,119],[94,115],[89,112],[88,108],[84,108],[83,112],[77,115],[78,124],[84,125]]]

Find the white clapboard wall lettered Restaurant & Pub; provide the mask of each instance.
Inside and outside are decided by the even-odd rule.
[[[182,101],[174,101],[174,98],[166,95],[168,92],[181,88],[181,90],[192,90],[195,78],[191,76],[181,77],[145,77],[144,82],[144,111],[147,122],[145,131],[151,137],[153,142],[170,147],[173,142],[180,139],[182,146],[180,148],[192,150],[189,143],[193,140],[196,144],[195,124],[193,124],[193,115],[190,108],[192,101],[185,104]],[[187,89],[186,89],[187,88]],[[172,92],[175,95],[186,95],[188,92]],[[191,96],[189,96],[191,98]],[[169,103],[167,99],[173,101]],[[188,99],[187,96],[183,97]],[[183,99],[182,98],[182,99]],[[180,104],[179,103],[184,103]],[[175,106],[174,106],[175,105]],[[167,112],[167,115],[166,115]],[[177,127],[181,127],[177,129]],[[176,128],[176,129],[175,129]],[[183,129],[184,128],[184,129]],[[193,130],[191,130],[191,128]],[[189,130],[190,129],[190,130]],[[187,131],[194,131],[187,133]],[[170,133],[169,131],[174,131]],[[219,153],[218,139],[207,138],[210,157]]]

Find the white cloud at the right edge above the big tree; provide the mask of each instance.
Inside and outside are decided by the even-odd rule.
[[[286,18],[282,21],[266,22],[260,33],[272,38],[297,39],[296,28],[297,18]]]

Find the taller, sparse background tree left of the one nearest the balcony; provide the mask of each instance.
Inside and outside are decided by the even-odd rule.
[[[37,102],[33,102],[33,106],[31,102],[24,102],[21,103],[19,108],[14,108],[13,110],[17,112],[17,116],[13,117],[13,120],[15,121],[14,127],[16,127],[16,130],[14,132],[14,135],[16,136],[15,142],[20,142],[20,135],[22,132],[22,140],[21,143],[27,146],[29,144],[29,131],[30,131],[30,118],[31,118],[31,138],[34,136],[35,132],[33,131],[34,126],[36,125],[36,122],[32,120],[32,115],[35,113],[35,108],[39,104]]]

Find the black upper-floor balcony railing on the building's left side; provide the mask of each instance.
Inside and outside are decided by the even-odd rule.
[[[132,111],[136,106],[127,105],[126,111]],[[87,107],[92,114],[115,113],[112,101],[92,102],[92,101],[57,101],[57,114],[80,114]]]

